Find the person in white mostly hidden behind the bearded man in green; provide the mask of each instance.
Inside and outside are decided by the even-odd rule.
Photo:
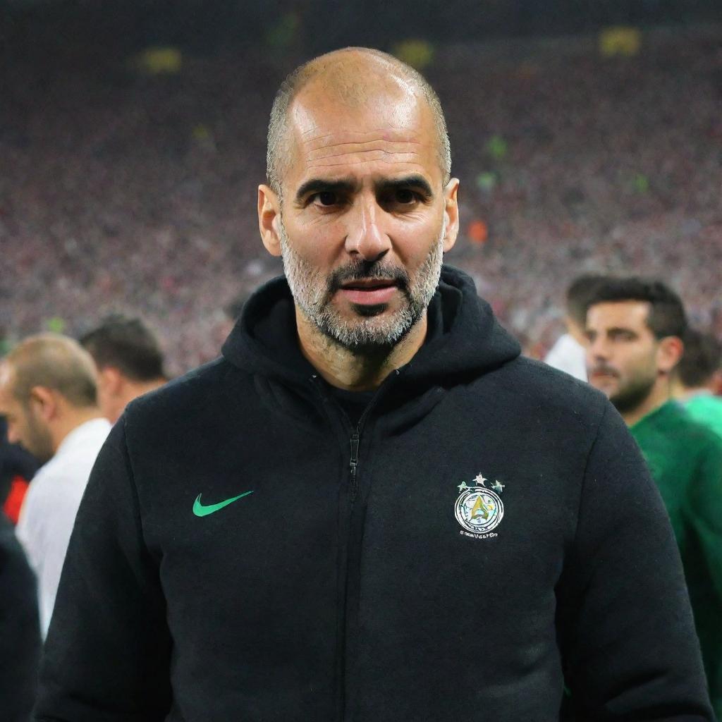
[[[567,289],[566,313],[564,323],[567,332],[557,339],[544,359],[544,362],[565,371],[582,381],[586,375],[586,336],[584,319],[589,297],[604,276],[586,274],[576,277]]]

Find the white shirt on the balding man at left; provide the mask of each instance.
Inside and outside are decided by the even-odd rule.
[[[110,431],[107,419],[72,430],[55,456],[30,482],[15,529],[38,577],[40,631],[48,633],[60,573],[75,515],[100,447]]]

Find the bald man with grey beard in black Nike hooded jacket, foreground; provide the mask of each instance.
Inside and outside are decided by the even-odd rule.
[[[258,225],[284,277],[131,402],[37,719],[710,720],[664,507],[604,396],[460,271],[435,93],[378,51],[286,79]]]

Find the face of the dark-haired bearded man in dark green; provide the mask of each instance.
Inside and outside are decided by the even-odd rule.
[[[659,342],[648,315],[645,301],[596,303],[587,312],[589,383],[622,413],[647,399],[659,375]]]

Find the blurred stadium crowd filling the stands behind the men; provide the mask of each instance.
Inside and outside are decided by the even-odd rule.
[[[172,374],[217,355],[229,308],[280,269],[258,242],[266,115],[297,58],[184,56],[148,74],[96,51],[3,69],[0,328],[82,334],[111,311],[160,332]],[[248,71],[253,68],[253,71]],[[664,277],[722,334],[718,29],[435,48],[469,271],[526,352],[579,272]],[[484,228],[468,232],[469,224]],[[466,231],[466,236],[464,235]]]

